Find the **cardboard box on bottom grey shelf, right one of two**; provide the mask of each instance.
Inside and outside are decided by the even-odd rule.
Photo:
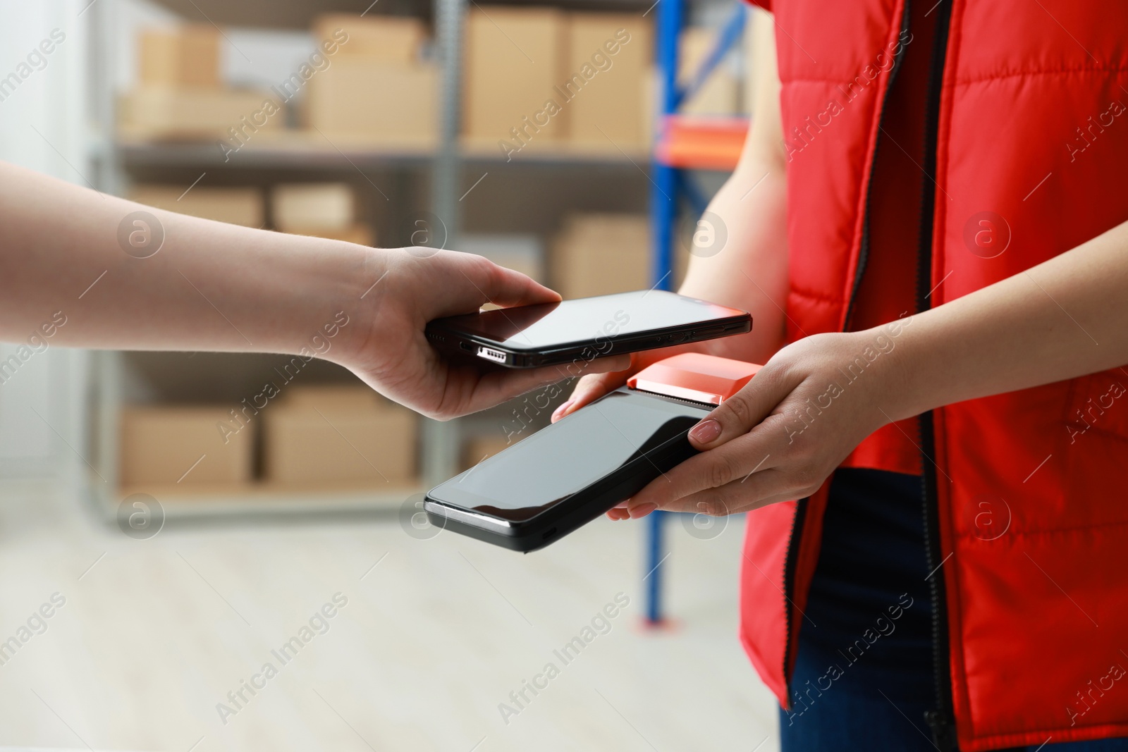
[[[418,416],[394,407],[316,407],[281,402],[263,413],[265,480],[298,485],[416,480]]]

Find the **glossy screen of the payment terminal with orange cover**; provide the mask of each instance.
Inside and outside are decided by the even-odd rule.
[[[504,520],[528,520],[688,431],[710,409],[614,391],[483,460],[429,496]]]

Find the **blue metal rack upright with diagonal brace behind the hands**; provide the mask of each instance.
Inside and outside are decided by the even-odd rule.
[[[699,69],[689,78],[685,86],[678,82],[678,38],[685,25],[686,0],[659,0],[655,3],[656,19],[656,68],[661,91],[659,109],[660,123],[667,115],[678,112],[682,103],[708,79],[710,73],[724,57],[725,53],[740,38],[744,28],[746,9],[741,0],[729,20],[721,28],[713,48],[702,61]],[[659,138],[661,139],[659,126]],[[689,176],[681,170],[651,159],[650,221],[653,238],[653,255],[651,278],[654,287],[669,290],[673,286],[673,244],[676,242],[678,211],[680,200],[686,200],[695,215],[699,215],[705,206],[702,194],[690,182]],[[663,523],[667,512],[654,512],[646,519],[646,575],[643,578],[646,593],[646,622],[651,626],[662,623],[662,569],[664,560]]]

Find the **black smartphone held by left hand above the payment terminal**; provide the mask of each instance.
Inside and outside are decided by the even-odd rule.
[[[743,334],[752,317],[664,290],[500,308],[431,321],[437,347],[511,369],[559,365]]]

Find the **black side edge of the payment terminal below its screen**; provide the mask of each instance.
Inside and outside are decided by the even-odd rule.
[[[711,408],[713,406],[703,404],[702,407]],[[576,492],[571,498],[559,503],[559,506],[569,508],[555,515],[552,510],[547,510],[531,520],[511,525],[509,529],[513,531],[512,533],[494,531],[490,528],[455,520],[444,514],[432,512],[425,506],[424,512],[426,512],[431,524],[437,528],[450,529],[452,532],[469,538],[528,554],[582,528],[624,498],[637,494],[662,472],[673,469],[697,454],[697,450],[689,443],[688,434],[689,428],[686,428],[682,434],[655,446],[628,465],[603,476],[592,486]],[[575,497],[581,495],[585,498],[575,503]],[[448,506],[446,502],[433,498],[430,492],[424,497],[424,504],[426,502],[438,506]]]

